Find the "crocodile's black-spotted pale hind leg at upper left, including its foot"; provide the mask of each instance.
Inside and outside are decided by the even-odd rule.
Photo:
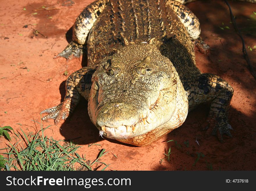
[[[79,58],[83,54],[83,45],[86,44],[87,35],[107,2],[108,0],[94,1],[80,13],[73,25],[73,41],[54,58],[61,56],[72,59],[73,56]]]

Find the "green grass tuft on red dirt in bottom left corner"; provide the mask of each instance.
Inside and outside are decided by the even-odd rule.
[[[72,142],[63,140],[54,140],[52,137],[44,136],[44,131],[49,128],[42,128],[36,133],[26,135],[22,131],[22,139],[26,141],[25,148],[17,148],[22,139],[19,139],[14,145],[8,143],[9,147],[0,149],[7,150],[8,158],[0,155],[0,168],[3,170],[77,170],[78,167],[83,170],[93,170],[93,165],[101,163],[108,167],[106,163],[99,161],[108,151],[102,149],[97,158],[90,163],[84,157],[79,156],[77,150],[81,147]],[[15,134],[17,136],[17,134]],[[22,145],[19,144],[19,145]],[[100,165],[100,166],[101,166]],[[104,169],[106,169],[104,167]],[[97,167],[98,169],[99,167]],[[104,170],[102,169],[102,170]]]

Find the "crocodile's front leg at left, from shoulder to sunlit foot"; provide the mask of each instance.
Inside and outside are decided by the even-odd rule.
[[[94,72],[95,69],[83,67],[72,73],[66,81],[66,95],[64,101],[58,106],[43,110],[40,114],[49,114],[42,117],[42,120],[54,119],[54,123],[57,125],[62,119],[67,119],[74,111],[79,103],[80,96],[83,96],[88,101],[92,86],[91,78]]]

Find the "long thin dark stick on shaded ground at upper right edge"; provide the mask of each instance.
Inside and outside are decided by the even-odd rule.
[[[232,10],[231,10],[231,7],[230,7],[229,3],[227,2],[227,0],[225,0],[225,2],[226,2],[227,6],[228,6],[228,8],[229,8],[230,17],[231,17],[231,20],[232,20],[234,29],[235,29],[235,31],[237,32],[237,34],[239,35],[239,37],[240,37],[241,40],[242,40],[242,43],[243,43],[243,49],[242,49],[242,51],[243,51],[243,56],[244,56],[244,58],[245,58],[245,60],[246,60],[246,62],[247,62],[247,64],[248,64],[248,66],[249,66],[249,70],[250,70],[252,76],[253,76],[254,79],[256,80],[256,74],[255,74],[255,71],[254,71],[254,69],[253,69],[253,66],[252,66],[252,64],[251,64],[251,62],[250,62],[249,56],[248,56],[248,54],[247,54],[247,51],[246,51],[246,48],[245,48],[245,42],[244,42],[243,37],[242,37],[242,35],[241,35],[241,33],[240,33],[238,27],[237,27],[237,23],[236,23],[236,21],[235,21],[235,19],[234,19],[234,15],[233,15],[233,13],[232,13]]]

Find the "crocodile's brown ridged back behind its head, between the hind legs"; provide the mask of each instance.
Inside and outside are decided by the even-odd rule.
[[[96,67],[118,49],[153,38],[181,79],[200,73],[189,35],[165,0],[110,0],[90,30],[88,65]]]

